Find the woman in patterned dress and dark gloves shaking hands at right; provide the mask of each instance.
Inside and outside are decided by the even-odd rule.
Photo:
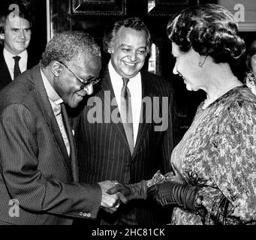
[[[236,20],[219,5],[197,5],[174,17],[167,34],[173,74],[207,98],[173,149],[173,172],[109,193],[173,205],[171,224],[255,224],[256,97],[233,74],[245,52]]]

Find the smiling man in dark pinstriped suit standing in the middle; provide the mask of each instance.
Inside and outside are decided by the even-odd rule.
[[[75,121],[80,181],[94,183],[113,179],[134,183],[158,169],[163,172],[169,169],[173,148],[173,92],[166,80],[142,71],[150,45],[149,30],[137,17],[120,20],[106,29],[104,50],[111,58],[104,69],[104,80]],[[159,126],[150,113],[155,113],[159,106],[154,106],[153,100],[158,98],[162,106],[164,97],[169,109],[160,107],[160,115],[166,118],[163,121],[167,121],[168,127],[156,130]],[[111,119],[105,114],[103,121],[90,122],[88,117],[92,116],[94,106],[89,102],[93,98],[100,99],[103,108],[111,113],[116,113],[118,108],[116,119],[114,114]],[[107,102],[115,102],[114,99],[116,106],[106,106]],[[145,106],[145,100],[152,106]],[[117,121],[118,117],[121,121]],[[121,205],[115,214],[101,211],[97,223],[152,225],[164,222],[163,211],[153,204],[137,200]]]

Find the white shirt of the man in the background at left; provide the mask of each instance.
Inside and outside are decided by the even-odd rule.
[[[14,80],[14,54],[11,52],[8,52],[7,49],[4,48],[4,58],[6,65],[8,66],[8,70],[11,74],[11,79]],[[20,56],[20,61],[19,61],[19,66],[20,66],[20,72],[23,73],[24,71],[27,70],[27,62],[28,62],[28,51],[25,50],[19,54]]]

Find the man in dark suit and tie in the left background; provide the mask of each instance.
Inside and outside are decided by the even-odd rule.
[[[2,10],[0,16],[0,89],[37,64],[27,51],[32,34],[32,19],[25,9],[21,6],[19,9]]]

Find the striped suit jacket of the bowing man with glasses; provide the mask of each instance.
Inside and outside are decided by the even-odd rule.
[[[71,224],[98,214],[101,187],[78,183],[74,136],[62,113],[70,157],[38,65],[0,92],[0,223]]]

